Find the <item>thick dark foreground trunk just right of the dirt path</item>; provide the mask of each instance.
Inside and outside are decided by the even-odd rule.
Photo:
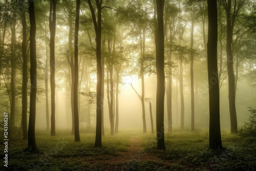
[[[156,1],[157,29],[155,33],[156,66],[157,66],[157,149],[165,150],[164,144],[164,28],[163,28],[164,0]]]

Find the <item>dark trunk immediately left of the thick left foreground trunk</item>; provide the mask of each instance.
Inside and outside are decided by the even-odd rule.
[[[22,1],[22,7],[25,7],[24,0]],[[28,125],[27,125],[27,111],[28,111],[28,56],[27,56],[27,24],[26,13],[22,11],[22,129],[23,139],[28,139]]]

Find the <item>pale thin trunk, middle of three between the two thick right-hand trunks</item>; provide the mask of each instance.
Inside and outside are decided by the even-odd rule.
[[[180,112],[180,130],[184,129],[184,95],[183,95],[183,64],[182,60],[179,60],[180,64],[180,74],[179,74],[179,82],[180,82],[180,103],[181,103],[181,112]]]

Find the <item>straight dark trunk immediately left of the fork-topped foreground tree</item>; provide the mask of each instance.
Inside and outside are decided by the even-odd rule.
[[[75,40],[74,40],[74,131],[75,141],[80,141],[78,117],[78,30],[79,30],[80,0],[76,0]]]

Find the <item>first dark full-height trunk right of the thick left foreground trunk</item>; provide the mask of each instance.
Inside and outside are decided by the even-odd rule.
[[[56,1],[50,1],[50,82],[51,82],[51,136],[55,136],[55,30],[56,30]]]

